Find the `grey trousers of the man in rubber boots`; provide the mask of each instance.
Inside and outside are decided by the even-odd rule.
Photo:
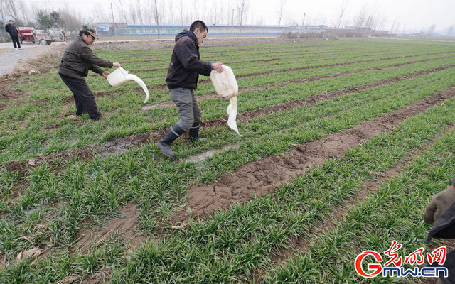
[[[176,104],[178,116],[180,116],[176,125],[184,131],[188,131],[191,127],[199,127],[202,111],[194,96],[194,90],[186,88],[169,89],[169,95],[172,102]]]

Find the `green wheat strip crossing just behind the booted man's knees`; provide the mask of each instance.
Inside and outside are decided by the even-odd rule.
[[[447,61],[450,62],[450,59],[423,62],[419,65],[414,65],[412,68],[411,66],[402,66],[387,70],[369,70],[368,72],[317,80],[305,84],[290,84],[284,87],[269,87],[267,90],[247,92],[239,96],[239,111],[267,107],[292,99],[309,97],[324,91],[330,92],[336,89],[354,87],[368,82],[412,74],[421,70],[431,70],[434,67],[449,63]],[[343,80],[340,80],[341,78]],[[58,107],[58,103],[55,103],[56,106],[53,106],[53,104],[46,106],[49,109],[48,111],[50,111],[50,115],[43,112],[46,109],[36,109],[35,104],[24,104],[20,107],[5,109],[2,116],[5,118],[4,121],[9,121],[9,123],[2,126],[2,129],[11,129],[11,133],[14,134],[9,135],[7,134],[9,131],[4,131],[4,138],[1,141],[1,148],[4,149],[4,152],[1,160],[8,162],[21,157],[31,158],[37,154],[39,155],[40,152],[38,151],[47,154],[68,148],[81,147],[114,137],[129,136],[133,133],[168,127],[175,121],[175,109],[155,109],[144,114],[138,109],[137,100],[139,97],[137,92],[128,94],[98,98],[97,104],[100,109],[103,111],[119,109],[119,112],[109,115],[109,121],[101,121],[98,124],[84,124],[76,128],[73,121],[60,119],[61,110]],[[167,94],[161,94],[161,97],[165,96],[168,97]],[[205,111],[204,119],[225,116],[225,102],[221,102],[219,99],[206,99],[201,102],[201,106]],[[70,114],[72,109],[73,107],[70,107],[67,114]],[[24,119],[27,121],[27,127],[16,129],[23,123]],[[45,128],[50,126],[58,129],[45,131]],[[45,148],[43,148],[43,145],[45,145]]]

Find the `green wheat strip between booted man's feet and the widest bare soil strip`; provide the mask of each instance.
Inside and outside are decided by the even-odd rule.
[[[407,82],[401,86],[400,83],[382,86],[321,102],[314,107],[259,117],[241,124],[244,136],[240,140],[226,129],[208,129],[204,132],[210,137],[210,143],[205,145],[190,147],[177,141],[176,149],[181,158],[226,143],[240,143],[239,149],[218,153],[206,160],[202,169],[195,163],[162,160],[153,143],[118,156],[97,157],[87,163],[61,161],[68,166],[68,170],[61,174],[53,172],[48,165],[42,165],[28,174],[30,183],[22,190],[21,196],[12,204],[4,198],[0,208],[4,208],[2,213],[10,214],[15,235],[31,235],[33,226],[54,210],[45,204],[64,201],[65,205],[51,215],[54,216],[52,221],[46,218],[51,226],[50,232],[44,236],[51,234],[56,244],[68,244],[84,220],[111,216],[120,204],[140,200],[145,219],[139,222],[144,229],[154,231],[157,219],[150,219],[149,214],[155,212],[157,217],[166,219],[175,200],[184,196],[188,182],[195,182],[195,177],[209,182],[244,163],[287,151],[292,144],[321,138],[392,109],[400,109],[447,87],[450,82],[444,82],[444,79],[451,73],[442,73],[439,80],[434,75],[428,76],[427,80],[432,84],[415,78],[414,85]],[[420,88],[421,84],[425,87]],[[14,190],[11,185],[15,180],[18,180],[16,173],[2,175],[4,196]],[[24,239],[7,247],[17,250],[29,245]]]

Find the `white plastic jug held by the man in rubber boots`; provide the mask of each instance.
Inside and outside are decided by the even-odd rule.
[[[229,66],[223,65],[223,72],[221,73],[212,70],[210,72],[210,80],[212,80],[213,87],[215,87],[216,93],[221,99],[228,100],[237,96],[239,86],[237,85],[237,80],[235,80],[234,72]]]

